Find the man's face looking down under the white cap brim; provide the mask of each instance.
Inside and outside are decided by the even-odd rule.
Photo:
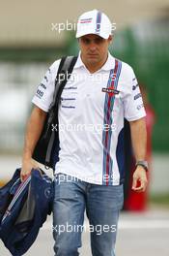
[[[97,63],[106,60],[108,46],[111,40],[111,36],[109,36],[108,39],[103,39],[98,35],[93,34],[79,38],[82,60],[88,65],[96,65]]]

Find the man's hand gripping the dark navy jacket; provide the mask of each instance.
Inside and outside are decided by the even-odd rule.
[[[32,159],[23,160],[22,168],[20,172],[20,179],[24,181],[28,176],[30,176],[32,169],[39,169],[38,164]]]

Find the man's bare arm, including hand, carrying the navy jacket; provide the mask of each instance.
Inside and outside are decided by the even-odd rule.
[[[32,159],[32,155],[41,136],[46,114],[47,113],[43,112],[40,108],[34,107],[28,120],[22,155],[22,169],[20,173],[21,180],[31,173],[32,168],[37,167],[36,162]]]

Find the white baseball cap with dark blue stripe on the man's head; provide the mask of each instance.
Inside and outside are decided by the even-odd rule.
[[[79,16],[77,21],[76,38],[95,34],[104,39],[112,34],[112,24],[108,16],[98,10],[93,10]]]

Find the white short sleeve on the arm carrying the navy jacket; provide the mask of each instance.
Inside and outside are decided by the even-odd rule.
[[[42,111],[48,112],[50,104],[53,100],[55,88],[55,79],[58,72],[60,60],[55,61],[45,73],[42,82],[37,88],[36,94],[32,99],[32,103],[38,106]]]

